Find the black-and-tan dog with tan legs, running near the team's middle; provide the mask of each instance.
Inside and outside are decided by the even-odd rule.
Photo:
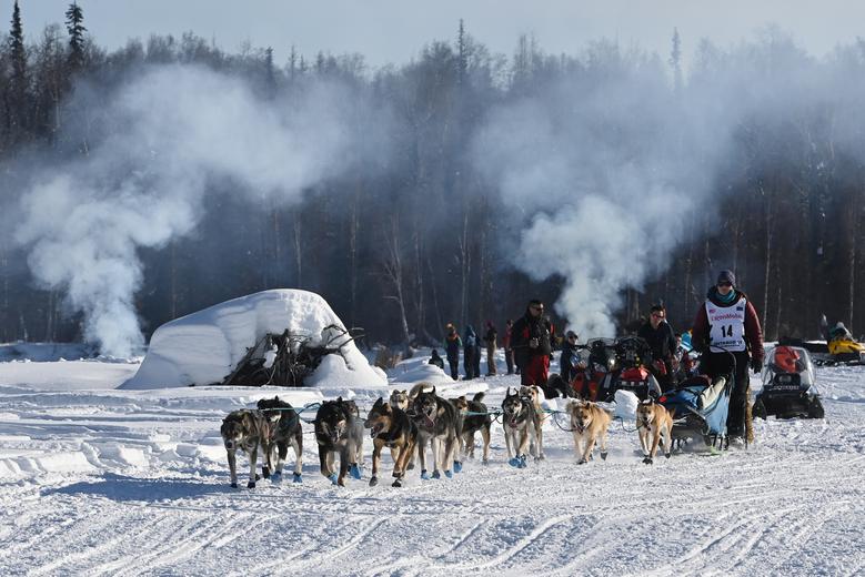
[[[393,457],[393,487],[402,487],[405,478],[405,469],[414,455],[418,446],[418,425],[415,425],[399,407],[385,403],[382,397],[372,406],[366,421],[363,423],[370,429],[372,437],[372,477],[370,486],[379,484],[379,465],[382,458],[382,448],[391,449]]]

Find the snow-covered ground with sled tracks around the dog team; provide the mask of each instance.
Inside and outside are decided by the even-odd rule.
[[[391,376],[424,375],[421,364]],[[369,407],[406,385],[118,389],[137,368],[0,363],[0,575],[865,571],[865,367],[818,370],[825,419],[757,422],[756,445],[721,457],[643,465],[626,423],[606,462],[577,466],[570,434],[550,424],[547,460],[514,469],[495,425],[489,466],[371,488],[369,444],[364,478],[335,488],[308,434],[303,484],[253,490],[229,487],[219,437],[229,411],[276,393]],[[517,378],[440,391],[484,389],[497,405]]]

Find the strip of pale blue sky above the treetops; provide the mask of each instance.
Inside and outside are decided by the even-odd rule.
[[[26,32],[60,22],[69,0],[20,0]],[[865,37],[865,2],[855,0],[80,0],[86,26],[109,49],[152,32],[192,30],[228,51],[244,41],[271,45],[284,62],[292,44],[361,52],[372,65],[410,60],[433,39],[452,39],[460,18],[493,52],[511,54],[521,33],[533,33],[546,52],[573,53],[589,40],[618,39],[664,57],[674,27],[685,57],[701,38],[726,45],[776,23],[799,44],[823,55],[838,42]],[[0,0],[9,22],[12,0]],[[8,27],[8,24],[7,24]]]

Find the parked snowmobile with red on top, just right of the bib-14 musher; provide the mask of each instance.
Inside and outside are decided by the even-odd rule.
[[[815,386],[816,371],[807,350],[778,345],[763,370],[763,389],[752,407],[755,417],[823,418],[823,403]]]

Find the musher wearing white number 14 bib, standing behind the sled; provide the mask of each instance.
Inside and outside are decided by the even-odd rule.
[[[736,276],[732,271],[721,271],[717,283],[708,290],[706,301],[694,320],[692,343],[703,353],[701,372],[711,378],[733,373],[735,358],[727,435],[733,439],[744,438],[748,366],[754,373],[763,368],[763,331],[754,305],[736,287]]]

